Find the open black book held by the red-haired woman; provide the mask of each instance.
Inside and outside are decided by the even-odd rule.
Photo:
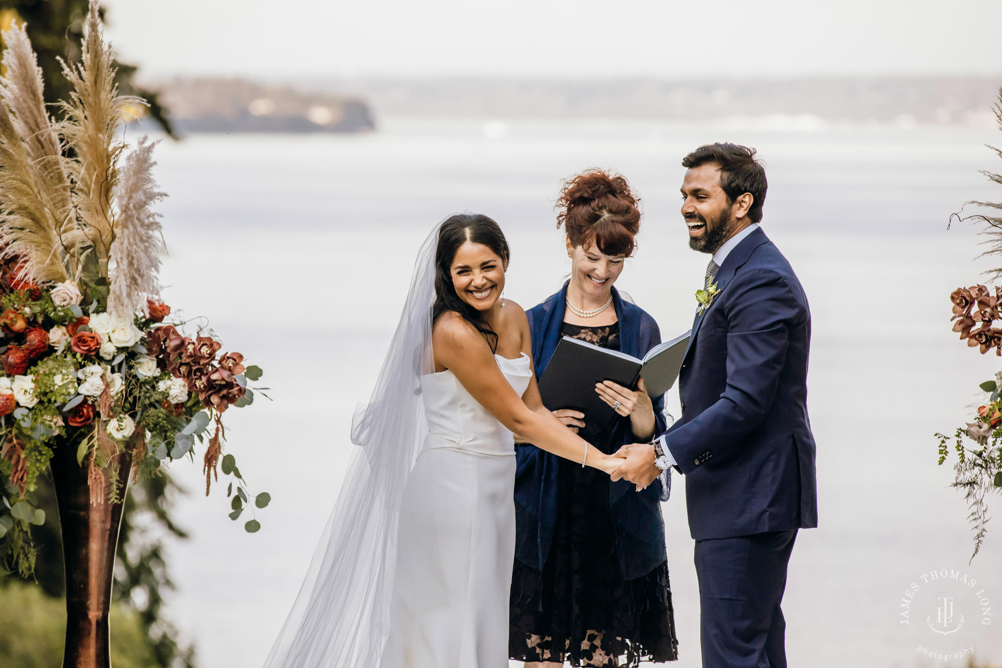
[[[643,376],[647,394],[656,399],[675,383],[689,334],[654,346],[643,359],[565,336],[539,379],[543,405],[550,410],[580,410],[585,421],[609,424],[615,411],[598,395],[595,385],[611,380],[635,390],[637,379]]]

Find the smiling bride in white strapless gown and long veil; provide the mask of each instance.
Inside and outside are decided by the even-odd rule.
[[[506,668],[512,431],[612,473],[542,405],[508,244],[479,214],[425,241],[355,453],[266,668]]]

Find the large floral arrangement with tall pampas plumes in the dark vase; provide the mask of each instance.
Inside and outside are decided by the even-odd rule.
[[[205,445],[205,493],[233,477],[230,518],[265,508],[235,459],[222,456],[221,415],[254,401],[262,370],[221,352],[210,332],[167,322],[157,273],[163,243],[152,206],[155,143],[120,138],[145,102],[117,94],[112,53],[91,3],[79,64],[63,64],[72,94],[50,118],[25,34],[3,33],[0,78],[0,555],[33,568],[30,526],[45,522],[33,490],[56,448],[75,448],[91,503],[117,500],[112,457],[133,475]],[[267,388],[261,388],[267,389]],[[115,461],[117,461],[116,459]],[[127,479],[127,478],[126,478]],[[233,494],[233,482],[236,493]],[[256,519],[246,522],[257,532]]]

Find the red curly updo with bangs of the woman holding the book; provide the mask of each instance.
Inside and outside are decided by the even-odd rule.
[[[575,247],[595,242],[605,255],[629,257],[640,231],[639,202],[622,175],[588,170],[564,182],[556,204],[557,227],[564,226]]]

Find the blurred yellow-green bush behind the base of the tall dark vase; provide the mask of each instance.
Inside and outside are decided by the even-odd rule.
[[[0,581],[0,666],[52,668],[62,661],[66,604],[33,585]],[[140,616],[121,605],[111,608],[111,664],[149,668],[156,663]]]

